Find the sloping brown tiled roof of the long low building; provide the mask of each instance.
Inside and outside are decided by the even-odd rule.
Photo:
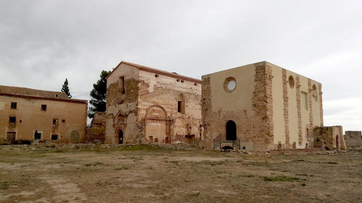
[[[31,97],[40,99],[63,100],[69,102],[88,102],[87,100],[71,99],[64,92],[35,90],[26,87],[12,87],[0,85],[0,95]],[[58,95],[58,97],[55,97]]]

